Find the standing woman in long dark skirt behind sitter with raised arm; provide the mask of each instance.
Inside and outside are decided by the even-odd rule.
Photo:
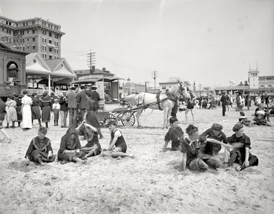
[[[86,105],[85,105],[85,113],[84,113],[84,121],[87,121],[88,124],[95,127],[100,135],[100,139],[103,139],[103,135],[100,130],[100,124],[97,120],[97,106],[95,101],[91,98],[92,92],[90,90],[86,90]]]

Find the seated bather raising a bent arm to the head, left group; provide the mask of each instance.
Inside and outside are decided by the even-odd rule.
[[[81,150],[86,153],[84,159],[101,154],[101,145],[99,144],[98,131],[95,127],[83,121],[77,128],[77,131],[83,131],[88,144]]]

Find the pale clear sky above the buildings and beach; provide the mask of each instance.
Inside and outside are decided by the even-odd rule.
[[[274,0],[0,0],[0,15],[62,26],[61,57],[75,69],[105,67],[134,83],[169,77],[237,84],[251,68],[274,75]]]

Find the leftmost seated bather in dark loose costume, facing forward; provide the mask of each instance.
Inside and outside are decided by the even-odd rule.
[[[40,163],[40,165],[45,165],[44,162],[53,162],[56,155],[53,155],[53,150],[51,148],[51,141],[49,138],[45,137],[47,134],[47,128],[40,127],[38,130],[38,136],[32,139],[27,149],[25,159],[26,165],[29,165],[29,161],[34,161]]]

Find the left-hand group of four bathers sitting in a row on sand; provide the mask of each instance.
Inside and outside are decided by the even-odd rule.
[[[121,133],[116,128],[116,122],[110,121],[108,123],[108,129],[110,129],[110,146],[107,150],[101,151],[101,145],[99,144],[98,131],[95,127],[84,121],[76,129],[71,126],[66,134],[61,138],[60,149],[58,150],[58,161],[61,163],[67,162],[80,162],[86,163],[88,157],[100,155],[105,157],[131,157],[134,155],[128,155],[127,144]],[[87,144],[82,147],[79,141],[79,132],[82,131],[86,137]],[[56,155],[53,155],[53,149],[51,147],[51,141],[45,137],[47,134],[47,128],[40,127],[38,130],[38,136],[32,139],[27,149],[25,159],[26,164],[29,161],[34,161],[45,165],[44,162],[53,162]]]

